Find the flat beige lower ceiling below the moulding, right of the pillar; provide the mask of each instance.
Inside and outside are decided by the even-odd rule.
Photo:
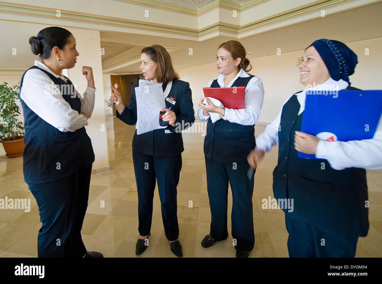
[[[382,2],[361,6],[347,11],[329,14],[325,18],[312,19],[291,26],[270,30],[261,34],[240,39],[247,52],[248,58],[276,55],[276,49],[282,53],[305,49],[314,40],[327,38],[342,42],[356,42],[360,40],[376,39],[382,37]],[[116,32],[100,32],[101,42],[123,43],[125,45],[138,44],[142,47],[159,44],[163,47],[176,47],[171,53],[176,69],[198,66],[215,62],[216,50],[220,43],[235,38],[215,37],[203,42],[168,39],[165,37],[148,37],[144,35],[123,34]],[[192,54],[189,55],[189,49]],[[134,54],[135,52],[135,54]],[[120,58],[140,56],[136,50],[121,53]],[[140,72],[139,63],[115,69],[105,74],[129,74]],[[103,64],[103,67],[104,66]]]

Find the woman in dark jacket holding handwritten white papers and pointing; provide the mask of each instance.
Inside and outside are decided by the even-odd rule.
[[[152,201],[154,198],[155,179],[158,184],[162,219],[165,235],[170,242],[171,251],[178,257],[183,256],[178,240],[179,226],[176,216],[176,186],[182,167],[181,152],[184,151],[181,130],[195,121],[191,89],[189,83],[179,80],[172,66],[170,55],[160,45],[145,47],[141,52],[141,70],[146,80],[161,83],[166,96],[163,121],[167,127],[153,130],[133,137],[133,163],[138,189],[139,237],[136,254],[142,254],[147,248],[152,220]],[[120,93],[111,87],[110,97],[117,108],[117,117],[128,125],[137,123],[137,105],[133,86],[129,106],[126,106]],[[170,110],[171,108],[171,110]],[[159,113],[158,113],[159,117]]]

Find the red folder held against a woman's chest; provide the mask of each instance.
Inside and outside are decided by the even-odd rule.
[[[219,99],[225,108],[243,109],[245,87],[203,88],[204,97]]]

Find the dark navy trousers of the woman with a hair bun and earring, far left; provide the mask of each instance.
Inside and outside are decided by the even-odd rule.
[[[92,165],[50,183],[28,183],[39,206],[42,227],[37,250],[39,257],[83,257],[81,238]]]

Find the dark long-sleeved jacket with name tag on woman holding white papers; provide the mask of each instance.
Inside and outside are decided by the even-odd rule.
[[[134,84],[133,93],[130,97],[129,106],[126,107],[121,114],[117,111],[117,117],[128,125],[135,125],[137,123],[137,104],[135,88],[139,83]],[[166,89],[167,84],[163,84],[163,91]],[[175,128],[171,125],[164,129],[157,129],[152,132],[142,133],[137,135],[135,130],[133,137],[133,149],[146,155],[153,155],[157,157],[169,157],[180,154],[184,151],[181,130],[190,127],[195,121],[191,89],[188,82],[178,79],[172,81],[171,91],[167,98],[173,98],[172,104],[165,101],[166,108],[170,108],[175,112]],[[158,114],[159,123],[159,114]],[[165,129],[170,130],[171,133],[165,133]]]

